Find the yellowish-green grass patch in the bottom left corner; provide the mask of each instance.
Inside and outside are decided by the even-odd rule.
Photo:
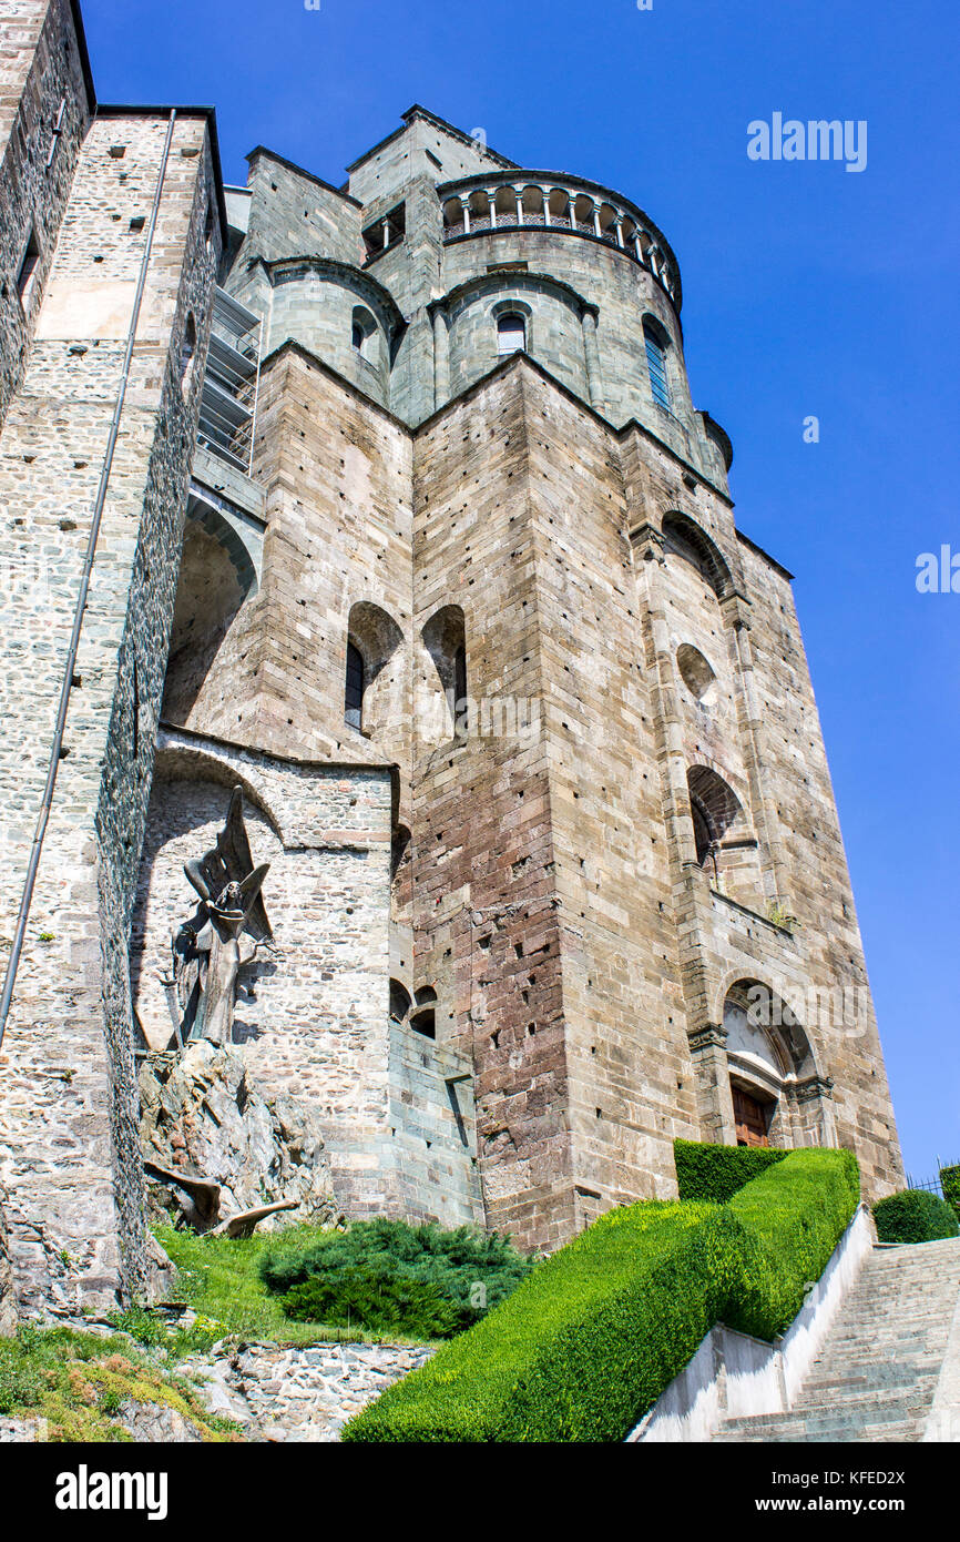
[[[176,1409],[203,1440],[234,1437],[234,1426],[211,1417],[188,1382],[160,1369],[126,1335],[26,1326],[0,1338],[0,1414],[46,1419],[48,1440],[131,1442],[119,1423],[128,1400]]]

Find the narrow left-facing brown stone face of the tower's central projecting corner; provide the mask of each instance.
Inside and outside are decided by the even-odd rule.
[[[462,609],[481,703],[538,706],[545,689],[532,480],[516,365],[418,435],[415,625]],[[424,726],[418,711],[415,984],[436,988],[445,1035],[473,1055],[487,1223],[555,1246],[575,1215],[547,746],[516,720],[459,745]]]

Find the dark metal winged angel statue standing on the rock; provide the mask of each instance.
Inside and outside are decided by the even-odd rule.
[[[253,865],[242,788],[233,791],[216,847],[186,862],[183,871],[200,904],[173,936],[182,1012],[177,1038],[230,1044],[240,968],[273,941],[260,896],[270,864]]]

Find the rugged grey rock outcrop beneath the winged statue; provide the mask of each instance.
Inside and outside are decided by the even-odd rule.
[[[280,1200],[296,1209],[268,1217],[263,1231],[341,1220],[316,1115],[296,1098],[265,1095],[239,1050],[199,1039],[180,1056],[151,1055],[140,1072],[140,1103],[145,1161],[220,1189],[211,1210],[197,1204],[196,1184],[188,1192],[148,1167],[151,1220],[170,1220],[173,1204],[185,1224],[208,1231]]]

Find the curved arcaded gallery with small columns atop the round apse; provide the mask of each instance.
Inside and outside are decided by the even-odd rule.
[[[524,171],[447,182],[438,194],[447,242],[527,228],[586,236],[647,268],[680,310],[680,270],[666,239],[641,210],[596,183]]]

